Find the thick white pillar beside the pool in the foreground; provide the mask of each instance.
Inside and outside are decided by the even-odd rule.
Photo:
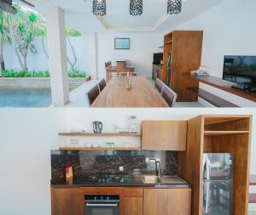
[[[61,8],[47,8],[46,28],[52,103],[65,105],[69,100],[69,88],[65,14]]]

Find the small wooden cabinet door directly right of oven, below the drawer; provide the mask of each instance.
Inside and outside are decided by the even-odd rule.
[[[123,215],[142,215],[143,214],[143,197],[124,197]]]

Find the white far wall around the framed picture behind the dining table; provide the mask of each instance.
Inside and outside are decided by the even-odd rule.
[[[131,39],[130,50],[114,49],[115,37]],[[99,33],[96,38],[97,71],[99,77],[106,76],[105,62],[109,60],[115,65],[117,60],[128,60],[135,67],[138,75],[152,76],[152,62],[154,52],[163,45],[163,34],[154,33]]]

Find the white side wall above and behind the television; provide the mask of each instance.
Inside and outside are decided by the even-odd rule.
[[[255,8],[255,0],[226,0],[177,29],[204,31],[201,64],[222,77],[224,55],[256,55]]]

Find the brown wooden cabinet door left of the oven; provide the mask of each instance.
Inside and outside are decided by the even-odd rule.
[[[52,215],[84,215],[84,196],[79,189],[52,188]]]

